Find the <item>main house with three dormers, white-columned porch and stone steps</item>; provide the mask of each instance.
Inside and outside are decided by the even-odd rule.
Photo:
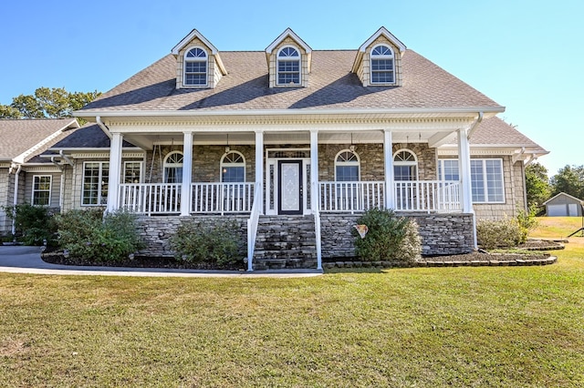
[[[524,167],[547,151],[384,27],[348,50],[289,28],[267,43],[220,51],[193,30],[75,112],[90,124],[42,156],[62,209],[136,212],[152,255],[184,220],[235,220],[254,270],[352,256],[371,208],[414,218],[426,254],[473,250],[477,218],[526,208]]]

